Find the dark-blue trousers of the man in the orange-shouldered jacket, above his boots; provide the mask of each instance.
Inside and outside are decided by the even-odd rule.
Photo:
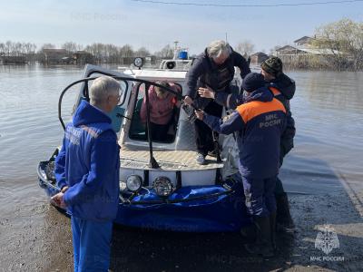
[[[268,217],[276,211],[276,179],[277,176],[263,180],[242,177],[246,207],[251,215]]]

